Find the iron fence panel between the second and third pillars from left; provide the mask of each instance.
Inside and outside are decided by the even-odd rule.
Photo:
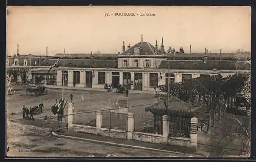
[[[113,112],[112,110],[103,110],[102,127],[127,131],[127,114]]]

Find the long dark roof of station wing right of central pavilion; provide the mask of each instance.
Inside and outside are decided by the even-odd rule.
[[[164,60],[160,63],[159,69],[166,69],[168,65],[170,69],[175,70],[236,70],[237,61],[207,61],[202,60]],[[238,70],[251,70],[248,61],[238,61]]]

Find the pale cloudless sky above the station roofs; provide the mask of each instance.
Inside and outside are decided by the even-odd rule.
[[[115,16],[115,13],[135,16]],[[110,16],[105,16],[109,13]],[[154,13],[155,16],[140,16]],[[111,15],[113,14],[113,15]],[[139,14],[137,16],[137,14]],[[118,53],[141,41],[185,53],[251,49],[250,7],[197,6],[9,6],[7,55]]]

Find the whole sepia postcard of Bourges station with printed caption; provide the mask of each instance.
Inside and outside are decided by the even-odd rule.
[[[249,157],[248,6],[8,6],[6,158]]]

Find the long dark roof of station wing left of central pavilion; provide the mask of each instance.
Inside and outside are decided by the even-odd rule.
[[[52,66],[57,59],[47,59],[41,66]],[[117,60],[81,60],[81,59],[60,59],[58,66],[81,67],[81,68],[117,68]]]

